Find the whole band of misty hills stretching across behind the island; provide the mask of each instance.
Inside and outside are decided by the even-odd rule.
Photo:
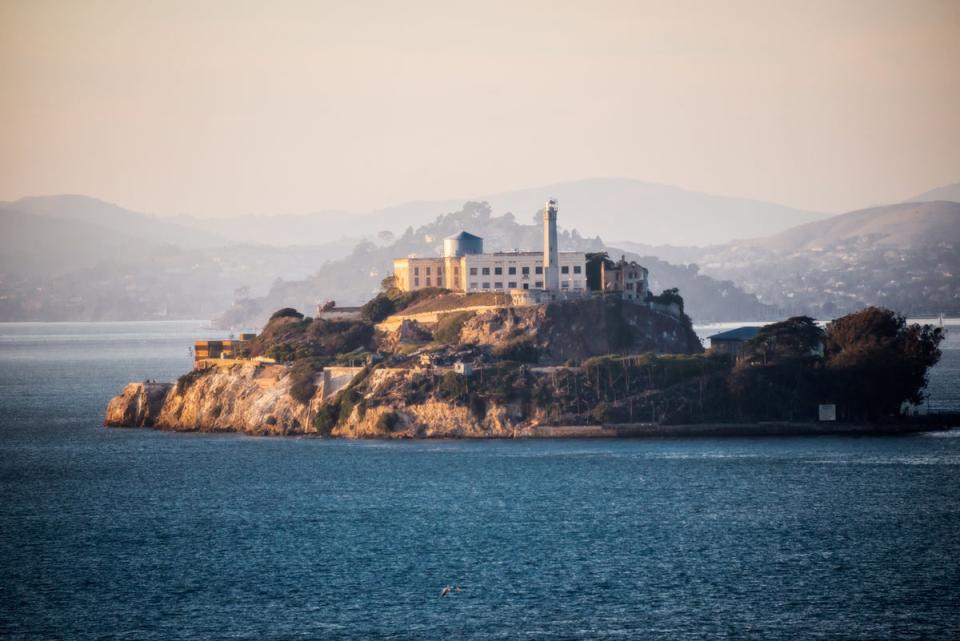
[[[764,237],[751,233],[747,240],[706,247],[654,245],[647,241],[656,234],[686,233],[691,223],[684,221],[702,218],[703,211],[729,210],[716,197],[610,179],[491,197],[513,215],[497,215],[494,206],[477,202],[436,209],[446,201],[432,201],[366,218],[328,212],[200,221],[143,214],[84,196],[3,203],[0,320],[212,317],[240,303],[234,312],[242,313],[233,318],[249,324],[262,320],[274,304],[302,308],[323,299],[356,304],[374,293],[392,258],[437,253],[443,235],[461,229],[484,236],[491,250],[538,249],[545,194],[561,200],[565,248],[607,248],[637,258],[651,269],[655,287],[681,288],[698,320],[829,317],[866,304],[906,313],[960,313],[954,277],[960,273],[960,204],[902,203],[795,226],[784,224],[789,212],[780,210],[767,226],[786,228]],[[596,198],[596,225],[578,198]],[[653,211],[657,202],[683,206],[662,215],[626,213],[641,205]],[[741,212],[731,218],[740,221],[737,229],[752,229],[744,211],[773,211],[763,203],[744,208],[744,202],[750,201],[726,202]],[[327,216],[356,237],[337,235],[323,222]],[[415,227],[411,221],[417,217],[427,222]],[[378,234],[383,227],[375,220],[392,221],[404,231]],[[714,222],[723,226],[719,215]],[[603,224],[624,234],[632,229],[640,242],[601,240],[595,229]],[[716,226],[696,233],[710,229],[720,233]],[[274,244],[283,241],[290,244]]]

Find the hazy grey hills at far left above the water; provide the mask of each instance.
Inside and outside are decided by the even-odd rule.
[[[304,278],[342,256],[323,246],[191,246],[191,234],[95,199],[7,203],[0,321],[209,318],[236,296],[262,294],[277,278]]]

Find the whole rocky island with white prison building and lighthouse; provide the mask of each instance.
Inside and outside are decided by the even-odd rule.
[[[277,311],[261,332],[199,341],[175,383],[130,383],[105,424],[346,438],[899,432],[943,331],[870,307],[800,316],[704,350],[676,289],[606,253],[483,252],[466,231],[394,261],[360,308]],[[946,421],[946,422],[945,422]]]

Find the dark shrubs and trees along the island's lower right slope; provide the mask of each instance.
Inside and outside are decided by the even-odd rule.
[[[478,420],[491,407],[510,407],[520,423],[812,421],[820,403],[836,403],[841,420],[884,421],[897,417],[902,403],[922,399],[941,339],[939,329],[907,325],[884,309],[837,319],[825,331],[798,317],[765,328],[739,361],[711,353],[609,354],[544,370],[496,360],[471,377],[421,370],[377,388],[360,379],[336,414],[344,421],[358,404],[402,414],[442,401]],[[333,412],[327,415],[326,429],[333,429]]]

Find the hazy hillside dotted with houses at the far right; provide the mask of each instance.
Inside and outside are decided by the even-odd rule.
[[[690,258],[784,314],[960,313],[960,203],[871,207]]]

